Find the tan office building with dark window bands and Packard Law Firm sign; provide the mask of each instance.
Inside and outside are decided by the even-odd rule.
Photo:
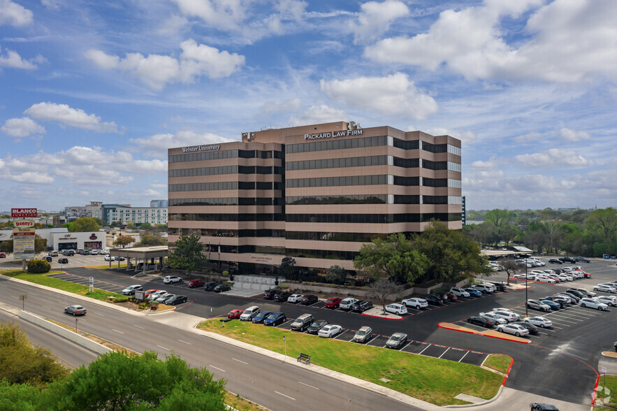
[[[210,259],[243,272],[286,256],[299,267],[353,270],[373,238],[419,232],[431,219],[460,229],[460,164],[451,136],[353,122],[171,148],[169,242],[196,232]]]

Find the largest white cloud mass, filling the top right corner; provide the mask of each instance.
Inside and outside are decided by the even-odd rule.
[[[528,40],[508,44],[500,23],[529,10]],[[481,6],[445,10],[428,31],[386,38],[366,48],[365,56],[428,70],[445,64],[467,79],[615,78],[616,14],[613,0],[485,0]]]

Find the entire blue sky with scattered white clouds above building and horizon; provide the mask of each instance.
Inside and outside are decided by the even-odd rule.
[[[463,140],[470,209],[617,205],[617,1],[0,0],[0,210],[167,197],[167,148]]]

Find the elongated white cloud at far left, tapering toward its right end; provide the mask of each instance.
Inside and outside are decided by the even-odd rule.
[[[36,103],[25,110],[24,114],[37,120],[56,121],[78,129],[92,130],[98,133],[118,133],[115,122],[101,122],[101,117],[87,114],[80,108],[71,108],[67,104]]]

